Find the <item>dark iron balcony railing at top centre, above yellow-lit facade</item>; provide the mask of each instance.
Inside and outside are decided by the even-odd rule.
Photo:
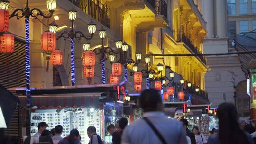
[[[167,18],[167,4],[165,0],[146,0],[156,11],[157,15]]]

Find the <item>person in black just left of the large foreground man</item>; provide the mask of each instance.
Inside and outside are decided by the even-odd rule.
[[[128,124],[128,120],[126,118],[122,117],[121,119],[119,119],[118,123],[119,123],[121,131],[113,133],[112,144],[121,144],[122,133]]]

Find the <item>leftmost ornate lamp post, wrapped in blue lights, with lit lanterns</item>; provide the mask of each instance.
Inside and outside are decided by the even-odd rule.
[[[30,107],[31,107],[31,96],[30,96],[30,41],[29,41],[29,18],[37,18],[42,16],[44,18],[51,18],[57,6],[57,0],[46,0],[47,9],[49,14],[44,14],[40,9],[30,9],[28,6],[28,0],[26,1],[25,8],[15,9],[12,14],[9,15],[9,19],[16,17],[17,19],[25,17],[25,30],[26,30],[26,98],[27,98],[27,121],[26,129],[27,135],[30,135]],[[0,0],[0,9],[7,10],[9,6],[8,0]]]

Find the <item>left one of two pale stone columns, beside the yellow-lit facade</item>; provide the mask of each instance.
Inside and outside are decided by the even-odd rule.
[[[213,0],[203,0],[202,6],[204,20],[207,22],[207,38],[212,38],[214,37]]]

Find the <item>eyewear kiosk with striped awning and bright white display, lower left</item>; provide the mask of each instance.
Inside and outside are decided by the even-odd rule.
[[[25,91],[15,91],[24,107]],[[69,135],[72,129],[77,129],[81,134],[82,144],[89,142],[87,128],[95,126],[101,138],[110,142],[112,138],[107,134],[106,126],[115,124],[123,116],[123,103],[117,102],[122,98],[118,85],[34,89],[31,90],[31,95],[31,135],[37,132],[38,123],[44,121],[49,125],[49,130],[62,125],[63,137]]]

